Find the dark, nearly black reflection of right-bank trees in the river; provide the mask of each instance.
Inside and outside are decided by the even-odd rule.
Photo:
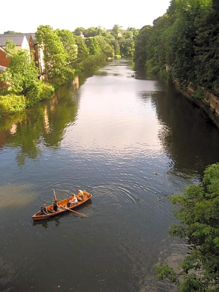
[[[167,83],[165,91],[152,92],[151,102],[162,125],[158,138],[176,172],[201,176],[208,164],[219,161],[219,132],[202,108]]]

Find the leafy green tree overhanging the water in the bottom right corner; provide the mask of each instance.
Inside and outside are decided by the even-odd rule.
[[[180,292],[219,290],[219,163],[206,167],[202,183],[190,185],[183,194],[169,198],[179,224],[172,224],[173,237],[185,238],[189,253],[176,273],[167,264],[156,265],[158,279],[169,279]]]

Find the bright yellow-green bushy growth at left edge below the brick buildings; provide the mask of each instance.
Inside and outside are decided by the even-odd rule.
[[[13,113],[30,107],[40,100],[51,98],[54,88],[38,80],[38,70],[32,54],[27,50],[16,50],[11,40],[5,48],[10,57],[9,68],[0,74],[4,86],[0,89],[0,115]]]

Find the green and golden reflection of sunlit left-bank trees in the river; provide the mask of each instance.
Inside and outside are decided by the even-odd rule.
[[[73,124],[78,112],[79,91],[74,85],[62,87],[54,98],[22,113],[0,121],[0,148],[16,148],[16,161],[24,165],[36,159],[45,147],[58,148],[66,126]]]

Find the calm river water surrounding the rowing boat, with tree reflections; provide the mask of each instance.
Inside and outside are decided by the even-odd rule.
[[[200,182],[218,141],[203,109],[128,59],[2,118],[0,290],[177,291],[153,267],[186,252],[165,195]],[[93,194],[76,209],[85,218],[32,220],[53,189],[61,200],[79,188]]]

